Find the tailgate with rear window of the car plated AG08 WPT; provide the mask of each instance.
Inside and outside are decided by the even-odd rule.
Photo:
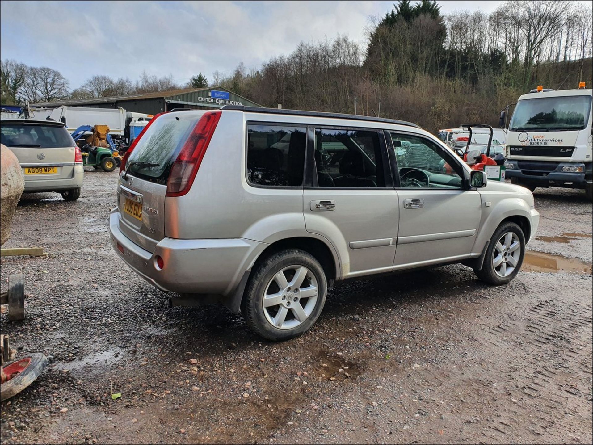
[[[27,183],[72,178],[76,143],[61,122],[6,120],[2,143],[17,156]]]

